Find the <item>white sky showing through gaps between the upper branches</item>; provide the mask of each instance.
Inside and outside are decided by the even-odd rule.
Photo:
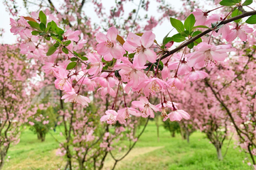
[[[23,0],[16,0],[18,2],[18,6],[21,9],[20,11],[20,15],[21,16],[28,16],[26,9],[23,8]],[[33,1],[33,0],[31,0]],[[58,1],[53,1],[55,4],[55,6],[58,6],[59,2]],[[0,28],[4,28],[4,34],[2,37],[0,37],[0,43],[1,44],[14,44],[16,42],[16,35],[13,35],[10,32],[11,26],[10,26],[10,18],[11,15],[9,14],[9,12],[6,11],[5,6],[2,4],[3,2],[0,2],[0,16],[1,17],[1,22],[0,22]],[[105,6],[106,9],[110,8],[112,6],[112,4],[114,3],[114,0],[102,0],[103,6]],[[139,3],[139,1],[137,1],[137,3]],[[154,5],[154,3],[156,3],[155,1],[151,1],[151,5],[149,8],[149,11],[156,11],[156,5]],[[124,6],[125,8],[137,8],[136,2],[129,2],[128,4],[126,4],[126,6]],[[182,6],[182,2],[176,0],[176,4],[174,4],[174,8],[176,9],[180,9]],[[92,4],[86,4],[86,6],[82,9],[83,11],[86,11],[86,13],[90,13],[91,17],[92,17],[92,21],[95,21],[96,23],[100,23],[100,20],[97,18],[97,15],[95,14],[94,9],[92,8]],[[109,11],[109,10],[107,10]],[[131,10],[127,10],[127,11],[131,11]],[[139,11],[139,14],[143,15],[143,10]],[[156,13],[156,18],[158,16],[158,14]],[[171,23],[166,20],[164,21],[164,23],[162,23],[161,25],[157,26],[156,28],[154,28],[153,33],[156,34],[156,40],[158,42],[161,42],[161,40],[164,38],[164,36],[169,33],[169,31],[172,29],[171,27]]]

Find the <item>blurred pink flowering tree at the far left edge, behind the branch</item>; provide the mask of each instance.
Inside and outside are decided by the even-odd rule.
[[[34,111],[31,107],[35,76],[33,66],[24,62],[16,45],[0,45],[0,169],[11,144],[19,142],[21,125],[28,122]]]

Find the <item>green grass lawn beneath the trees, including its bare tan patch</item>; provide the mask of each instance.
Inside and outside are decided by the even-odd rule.
[[[142,130],[142,128],[140,129]],[[60,130],[52,132],[58,140],[63,137],[58,135]],[[181,135],[171,137],[170,133],[160,127],[160,141],[157,141],[156,126],[150,121],[144,134],[137,142],[137,145],[125,159],[118,162],[118,170],[128,169],[189,169],[189,170],[210,170],[210,169],[251,169],[245,160],[247,157],[239,148],[233,149],[235,145],[231,142],[228,154],[223,161],[218,161],[215,147],[201,132],[194,132],[191,135],[191,142],[181,140]],[[223,146],[223,154],[227,148],[228,141]],[[46,135],[46,141],[41,142],[30,130],[25,130],[21,135],[21,142],[11,146],[4,169],[58,169],[60,164],[65,164],[61,157],[56,156],[58,142],[50,135]],[[117,155],[122,157],[124,152]],[[242,163],[245,160],[245,164]],[[110,169],[114,162],[108,155],[104,169]],[[63,166],[62,166],[63,167]]]

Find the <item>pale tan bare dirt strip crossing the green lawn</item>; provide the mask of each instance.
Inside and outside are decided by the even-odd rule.
[[[132,158],[134,157],[138,157],[139,155],[142,155],[142,154],[146,154],[146,153],[149,153],[149,152],[152,152],[156,149],[161,149],[163,147],[139,147],[139,148],[134,148],[132,149],[131,152],[129,152],[129,154],[124,158],[122,159],[122,161],[118,162],[117,163],[117,166],[116,168],[122,166],[122,162],[129,162],[132,160]],[[110,157],[110,155],[109,155]],[[122,157],[122,154],[120,154],[120,157]],[[117,157],[119,158],[119,157]],[[104,166],[103,166],[103,169],[104,170],[108,170],[108,169],[111,169],[114,165],[114,160],[112,158],[110,158],[111,160],[105,162]]]

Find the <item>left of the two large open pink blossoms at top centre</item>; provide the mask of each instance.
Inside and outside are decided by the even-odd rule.
[[[98,33],[96,35],[96,40],[99,42],[97,44],[97,52],[99,55],[103,55],[104,60],[110,61],[114,57],[115,59],[119,59],[125,54],[124,49],[117,45],[117,28],[111,27],[107,31],[107,35],[103,33]]]

